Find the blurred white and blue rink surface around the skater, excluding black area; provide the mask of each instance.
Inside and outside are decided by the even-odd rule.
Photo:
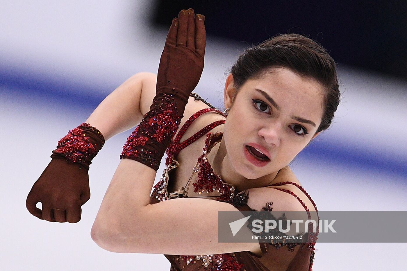
[[[39,2],[0,8],[0,23],[13,26],[0,28],[0,269],[169,270],[163,255],[112,253],[90,238],[132,130],[109,139],[92,161],[91,198],[79,223],[50,223],[26,210],[27,194],[57,141],[129,76],[156,72],[166,35],[144,22],[148,1]],[[210,37],[207,44],[196,92],[222,107],[224,72],[244,46]],[[319,211],[407,211],[407,84],[350,67],[340,66],[339,75],[344,98],[333,127],[291,168]],[[406,243],[315,248],[315,271],[407,267]]]

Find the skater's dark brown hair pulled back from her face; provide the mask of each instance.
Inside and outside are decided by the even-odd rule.
[[[315,79],[326,89],[324,116],[317,132],[330,126],[339,105],[341,93],[336,63],[319,43],[298,34],[272,37],[245,50],[230,72],[234,87],[239,90],[248,79],[258,79],[270,68],[283,67]]]

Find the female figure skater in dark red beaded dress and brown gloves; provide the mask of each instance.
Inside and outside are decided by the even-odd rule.
[[[105,140],[142,119],[92,227],[100,247],[165,254],[171,270],[312,270],[316,236],[308,243],[219,243],[218,211],[302,211],[318,219],[287,165],[330,126],[340,96],[335,62],[306,37],[271,38],[236,61],[221,112],[192,93],[205,44],[204,16],[182,10],[158,75],[132,76],[61,138],[26,206],[40,219],[78,222],[90,197],[91,160]],[[150,195],[165,151],[167,167]]]

